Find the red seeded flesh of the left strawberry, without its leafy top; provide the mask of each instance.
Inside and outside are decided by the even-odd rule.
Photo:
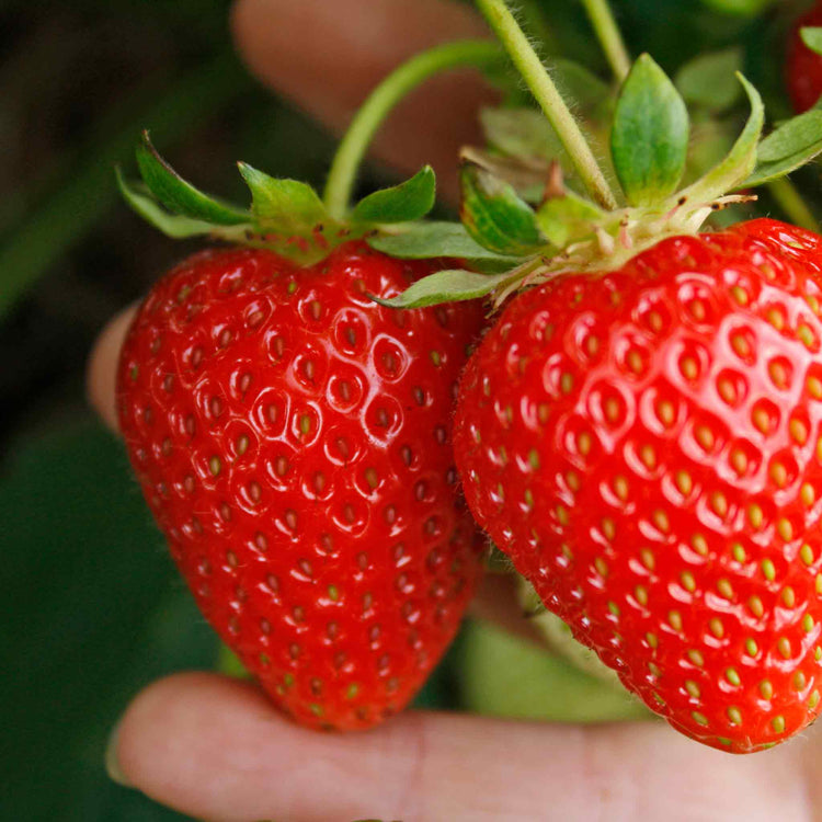
[[[363,242],[309,267],[206,251],[157,284],[123,349],[121,427],[174,560],[309,726],[400,710],[480,573],[449,431],[481,310],[368,297],[432,270]]]

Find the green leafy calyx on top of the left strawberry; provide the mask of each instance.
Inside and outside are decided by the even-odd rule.
[[[141,183],[117,171],[128,204],[169,237],[209,237],[267,248],[300,264],[322,260],[347,240],[376,237],[385,226],[419,220],[433,207],[436,181],[430,167],[391,189],[369,194],[344,219],[333,218],[306,183],[269,176],[248,163],[240,174],[251,193],[247,208],[204,194],[183,180],[151,145],[148,133],[137,148]]]

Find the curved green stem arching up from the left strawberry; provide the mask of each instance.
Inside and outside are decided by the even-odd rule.
[[[357,168],[383,121],[400,100],[441,71],[460,66],[488,68],[500,59],[500,48],[495,43],[458,41],[435,46],[395,69],[370,93],[340,142],[323,194],[329,214],[336,219],[345,217]]]

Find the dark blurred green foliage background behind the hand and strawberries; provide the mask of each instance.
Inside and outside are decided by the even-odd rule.
[[[576,0],[541,5],[552,47],[602,70]],[[743,38],[756,55],[749,75],[784,113],[775,67],[792,4],[753,16],[768,3],[615,5],[635,53],[651,50],[670,71]],[[322,182],[332,139],[247,75],[228,8],[0,0],[2,820],[181,819],[106,779],[105,740],[142,685],[213,666],[217,646],[118,443],[87,408],[83,368],[106,319],[194,248],[160,237],[117,197],[112,164],[133,170],[141,128],[206,191],[243,196],[238,158]],[[370,170],[361,185],[380,182]],[[580,719],[612,698],[537,649],[475,625],[420,701],[551,719],[559,692],[583,696]],[[621,699],[609,709],[630,713]]]

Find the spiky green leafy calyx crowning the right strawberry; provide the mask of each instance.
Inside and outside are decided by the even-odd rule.
[[[780,180],[822,152],[821,110],[792,117],[763,138],[762,100],[734,70],[739,61],[734,49],[704,55],[674,82],[649,55],[640,56],[616,96],[601,98],[600,119],[586,122],[593,155],[607,156],[590,193],[582,189],[579,163],[564,156],[572,145],[556,127],[529,110],[486,113],[491,149],[464,152],[461,221],[476,246],[496,255],[496,264],[437,272],[388,305],[412,308],[487,295],[499,305],[567,272],[621,267],[665,237],[696,233],[716,212],[754,199],[750,189]],[[744,127],[735,138],[724,125],[717,129],[724,152],[699,169],[692,132],[705,134],[710,116],[727,112],[740,96],[750,107]],[[602,180],[614,192],[615,207],[603,205]],[[419,240],[423,231],[414,231]],[[392,238],[400,256],[401,236],[399,230]],[[507,259],[505,267],[499,258]]]

